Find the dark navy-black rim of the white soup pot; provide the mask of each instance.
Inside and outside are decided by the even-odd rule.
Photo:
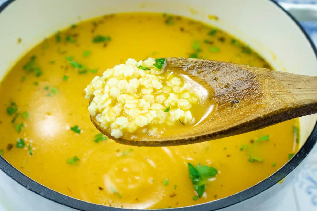
[[[0,12],[4,10],[10,3],[12,3],[14,0],[8,0],[4,2],[2,5],[0,5]],[[312,49],[314,50],[316,60],[317,60],[317,50],[310,39],[310,37],[307,35],[306,31],[303,29],[301,24],[294,19],[292,15],[290,15],[286,10],[284,10],[278,3],[275,2],[275,0],[268,0],[275,4],[280,10],[282,10],[289,18],[293,20],[294,23],[300,28],[302,33],[306,36],[306,39],[309,41]],[[190,210],[218,210],[222,208],[226,208],[229,206],[232,206],[234,204],[237,204],[239,202],[245,201],[251,197],[254,197],[261,192],[265,191],[266,189],[272,187],[277,182],[281,181],[285,176],[290,174],[308,155],[308,153],[311,151],[311,149],[314,147],[315,143],[317,141],[317,122],[314,126],[314,129],[312,133],[309,135],[307,141],[304,143],[304,145],[301,147],[301,149],[294,155],[294,157],[286,163],[284,166],[282,166],[279,170],[277,170],[274,174],[270,175],[268,178],[262,180],[261,182],[257,183],[256,185],[247,188],[241,192],[238,192],[234,195],[227,196],[225,198],[216,200],[216,201],[210,201],[203,204],[197,204],[187,207],[180,207],[180,208],[170,208],[168,210],[182,210],[182,211],[190,211]],[[22,185],[23,187],[27,188],[28,190],[41,195],[42,197],[54,201],[56,203],[59,203],[61,205],[74,208],[81,211],[89,211],[89,210],[95,210],[95,211],[137,211],[137,209],[125,209],[125,208],[114,208],[114,207],[108,207],[103,206],[99,204],[90,203],[87,201],[82,201],[79,199],[72,198],[70,196],[61,194],[56,192],[55,190],[52,190],[50,188],[47,188],[40,183],[32,180],[28,176],[24,175],[22,172],[17,170],[15,167],[13,167],[9,162],[7,162],[2,156],[0,156],[0,169],[7,174],[10,178],[15,180],[17,183]],[[155,210],[162,210],[162,209],[153,209]]]

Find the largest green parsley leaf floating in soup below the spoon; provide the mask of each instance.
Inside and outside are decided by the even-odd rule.
[[[191,182],[193,183],[199,198],[201,198],[204,194],[206,187],[205,185],[208,179],[215,177],[218,173],[218,170],[209,166],[200,166],[200,164],[198,164],[196,167],[191,163],[187,163],[187,165]]]

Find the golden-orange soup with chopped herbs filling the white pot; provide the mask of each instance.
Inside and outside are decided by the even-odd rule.
[[[124,208],[220,199],[263,180],[294,155],[297,120],[175,147],[130,147],[101,135],[85,99],[92,78],[128,58],[168,56],[270,67],[234,37],[184,17],[127,13],[74,24],[27,52],[3,79],[0,154],[60,193]],[[204,166],[213,175],[199,195],[189,169],[202,173]]]

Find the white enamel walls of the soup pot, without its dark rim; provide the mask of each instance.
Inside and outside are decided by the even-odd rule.
[[[0,6],[0,79],[43,37],[80,20],[130,11],[166,12],[209,23],[249,44],[277,70],[317,76],[317,51],[313,43],[299,23],[272,0],[9,0]],[[217,16],[218,20],[210,19],[209,15]],[[22,37],[22,45],[17,45],[18,37]],[[300,150],[268,178],[226,198],[169,210],[276,208],[316,143],[316,120],[316,115],[300,118]],[[128,210],[60,194],[23,175],[1,156],[0,169],[0,208],[3,206],[4,210]]]

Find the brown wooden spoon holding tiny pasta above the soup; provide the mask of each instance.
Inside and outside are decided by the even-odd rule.
[[[165,58],[175,73],[193,76],[214,93],[217,103],[197,126],[173,136],[111,137],[95,118],[95,127],[116,142],[133,146],[174,146],[204,142],[264,128],[317,113],[317,77],[273,71],[249,65],[194,58]]]

